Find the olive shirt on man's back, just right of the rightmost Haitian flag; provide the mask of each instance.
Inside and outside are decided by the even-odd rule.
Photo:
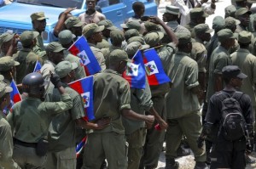
[[[177,51],[167,75],[172,79],[172,90],[166,94],[166,118],[176,119],[199,110],[197,95],[191,92],[191,88],[199,85],[195,60]]]

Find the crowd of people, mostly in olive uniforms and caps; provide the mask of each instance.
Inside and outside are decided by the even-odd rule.
[[[190,154],[181,143],[193,151],[195,169],[242,169],[254,162],[256,22],[251,3],[233,3],[212,20],[212,29],[206,18],[214,0],[172,0],[162,20],[143,16],[144,3],[135,2],[121,29],[87,0],[79,17],[71,14],[75,8],[59,15],[58,42],[46,47],[44,12],[31,14],[32,31],[3,33],[0,168],[154,169],[164,141],[166,169],[177,169],[177,156]],[[102,69],[93,75],[92,121],[84,120],[84,100],[68,86],[88,76],[67,50],[82,36]],[[127,63],[148,48],[172,82],[130,87],[122,77]],[[38,62],[42,68],[33,72]],[[10,107],[11,82],[22,100]]]

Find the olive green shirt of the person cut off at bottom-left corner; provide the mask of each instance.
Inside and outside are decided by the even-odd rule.
[[[0,143],[0,152],[2,153],[0,169],[2,169],[2,167],[5,169],[20,168],[12,157],[14,149],[12,130],[2,110],[0,110]]]

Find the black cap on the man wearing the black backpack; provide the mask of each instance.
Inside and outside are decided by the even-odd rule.
[[[247,78],[247,75],[243,74],[237,65],[226,65],[222,69],[222,76],[228,78]]]

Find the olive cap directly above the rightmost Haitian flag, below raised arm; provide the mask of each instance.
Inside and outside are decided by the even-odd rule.
[[[164,37],[164,33],[161,31],[151,31],[144,36],[145,42],[150,46],[154,47]]]

